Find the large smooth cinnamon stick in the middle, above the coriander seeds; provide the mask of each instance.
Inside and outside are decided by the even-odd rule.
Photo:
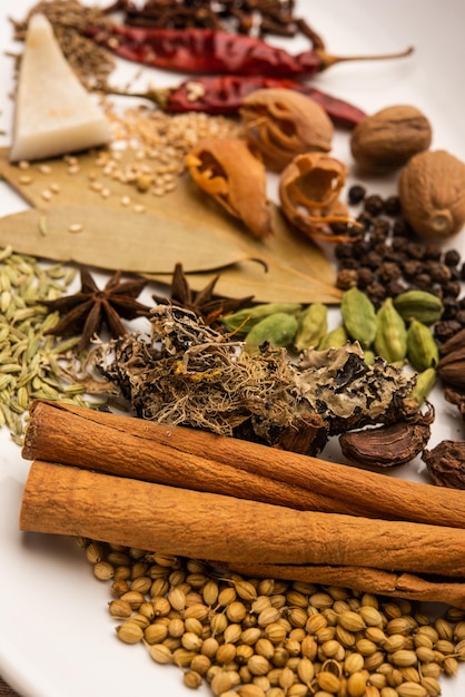
[[[334,565],[465,576],[465,530],[296,511],[32,463],[20,528],[230,565]]]

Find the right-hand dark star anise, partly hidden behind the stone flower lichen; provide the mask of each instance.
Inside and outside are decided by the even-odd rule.
[[[152,295],[152,298],[156,303],[172,303],[179,307],[191,310],[204,320],[205,324],[211,326],[222,315],[236,312],[240,307],[247,307],[254,298],[253,295],[239,300],[214,295],[219,276],[219,274],[215,276],[201,291],[192,291],[184,273],[182,264],[178,263],[172,273],[170,297]]]

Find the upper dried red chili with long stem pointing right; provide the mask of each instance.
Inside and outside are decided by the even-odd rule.
[[[314,48],[296,56],[248,35],[211,29],[89,27],[87,36],[117,56],[165,70],[188,73],[305,78],[347,60],[375,60],[408,56],[412,48],[385,56],[332,56]]]

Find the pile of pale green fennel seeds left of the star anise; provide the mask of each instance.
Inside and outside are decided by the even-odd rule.
[[[79,336],[59,341],[47,335],[59,315],[40,304],[66,294],[75,275],[73,267],[39,265],[10,246],[0,249],[0,426],[8,428],[18,444],[32,400],[88,406],[86,386],[70,377]]]

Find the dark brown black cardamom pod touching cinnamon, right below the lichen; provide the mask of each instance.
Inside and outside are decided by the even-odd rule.
[[[386,469],[406,464],[425,448],[431,436],[425,423],[400,422],[364,431],[348,431],[339,436],[343,454],[360,467]]]

